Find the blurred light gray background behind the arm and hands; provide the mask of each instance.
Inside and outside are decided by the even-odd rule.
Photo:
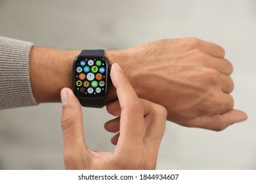
[[[0,35],[72,49],[177,37],[220,44],[234,65],[236,108],[249,119],[219,133],[167,122],[158,169],[256,169],[255,0],[0,0]],[[0,169],[64,169],[60,115],[61,105],[52,103],[1,110]],[[112,150],[103,128],[112,116],[89,108],[83,115],[89,146]]]

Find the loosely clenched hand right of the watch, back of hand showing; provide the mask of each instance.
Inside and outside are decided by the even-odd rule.
[[[105,54],[121,65],[139,97],[167,109],[168,120],[220,131],[247,118],[233,108],[233,68],[217,44],[165,39]],[[106,101],[115,95],[112,90]]]

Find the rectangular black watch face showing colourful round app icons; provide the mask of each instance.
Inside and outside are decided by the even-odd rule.
[[[79,56],[74,61],[73,91],[77,97],[104,97],[108,93],[109,62],[104,57]]]

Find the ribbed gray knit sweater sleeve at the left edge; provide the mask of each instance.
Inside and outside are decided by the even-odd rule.
[[[30,84],[32,45],[0,37],[0,109],[37,105]]]

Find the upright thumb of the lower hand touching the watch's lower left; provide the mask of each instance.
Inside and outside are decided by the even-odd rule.
[[[79,101],[70,88],[63,88],[60,92],[60,97],[62,101],[61,127],[64,148],[66,150],[86,149],[83,113]]]

